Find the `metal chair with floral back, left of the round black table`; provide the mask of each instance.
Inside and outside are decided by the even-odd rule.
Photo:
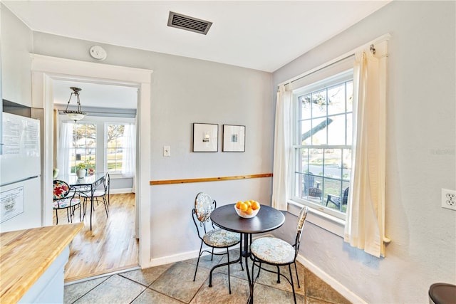
[[[211,253],[211,261],[214,258],[214,255],[227,255],[229,263],[229,247],[239,244],[241,237],[240,234],[236,234],[231,231],[224,229],[215,228],[214,224],[210,220],[212,211],[217,207],[217,202],[209,196],[209,194],[204,192],[199,192],[195,198],[195,208],[192,209],[192,219],[195,223],[197,229],[197,234],[201,240],[201,245],[199,246],[199,254],[197,266],[195,268],[195,276],[193,276],[193,281],[197,277],[197,270],[199,265],[199,258],[203,252]],[[234,210],[233,210],[234,211]],[[206,245],[211,248],[211,251],[202,250],[202,246]],[[214,253],[214,248],[226,248],[226,253]],[[242,263],[241,263],[242,267]],[[242,268],[244,270],[244,268]],[[212,271],[209,274],[209,287],[212,286]],[[231,294],[231,283],[229,281],[229,264],[228,264],[228,288],[229,293]]]

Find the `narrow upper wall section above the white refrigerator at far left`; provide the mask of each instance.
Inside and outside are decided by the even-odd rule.
[[[1,5],[1,98],[31,107],[32,31]]]

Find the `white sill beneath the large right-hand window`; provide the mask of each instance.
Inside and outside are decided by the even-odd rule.
[[[287,210],[291,214],[298,216],[299,210],[302,206],[302,204],[299,204],[296,201],[288,201]],[[338,219],[335,216],[325,214],[317,209],[309,207],[309,213],[307,214],[306,221],[309,221],[310,223],[343,238],[345,221],[342,219]]]

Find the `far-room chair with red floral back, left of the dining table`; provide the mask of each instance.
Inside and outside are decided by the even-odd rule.
[[[81,199],[76,199],[76,191],[66,182],[58,179],[53,181],[53,209],[56,210],[56,225],[58,225],[58,210],[66,209],[68,222],[73,223],[76,207],[79,208],[79,220],[81,221]]]

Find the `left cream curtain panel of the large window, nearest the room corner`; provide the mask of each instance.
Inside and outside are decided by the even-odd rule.
[[[272,206],[286,210],[289,198],[289,177],[291,172],[291,122],[292,122],[292,93],[279,87],[276,101],[276,126],[274,133],[274,178],[272,180]]]

